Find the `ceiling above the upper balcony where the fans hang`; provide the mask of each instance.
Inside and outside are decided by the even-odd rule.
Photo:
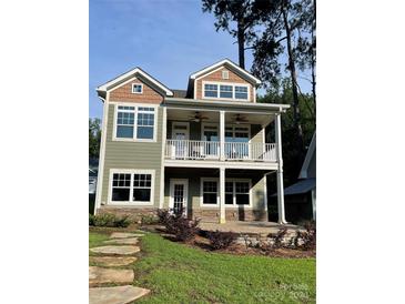
[[[168,109],[168,120],[174,121],[193,121],[193,116],[195,115],[195,110],[182,110],[182,109]],[[219,111],[198,111],[202,116],[205,116],[205,120],[202,122],[220,122],[220,112]],[[240,114],[240,116],[244,118],[246,121],[244,124],[261,124],[263,126],[267,125],[274,120],[273,114],[259,114],[259,113],[245,113],[245,112],[225,112],[225,123],[235,123],[235,115]],[[241,124],[243,124],[241,123]]]

